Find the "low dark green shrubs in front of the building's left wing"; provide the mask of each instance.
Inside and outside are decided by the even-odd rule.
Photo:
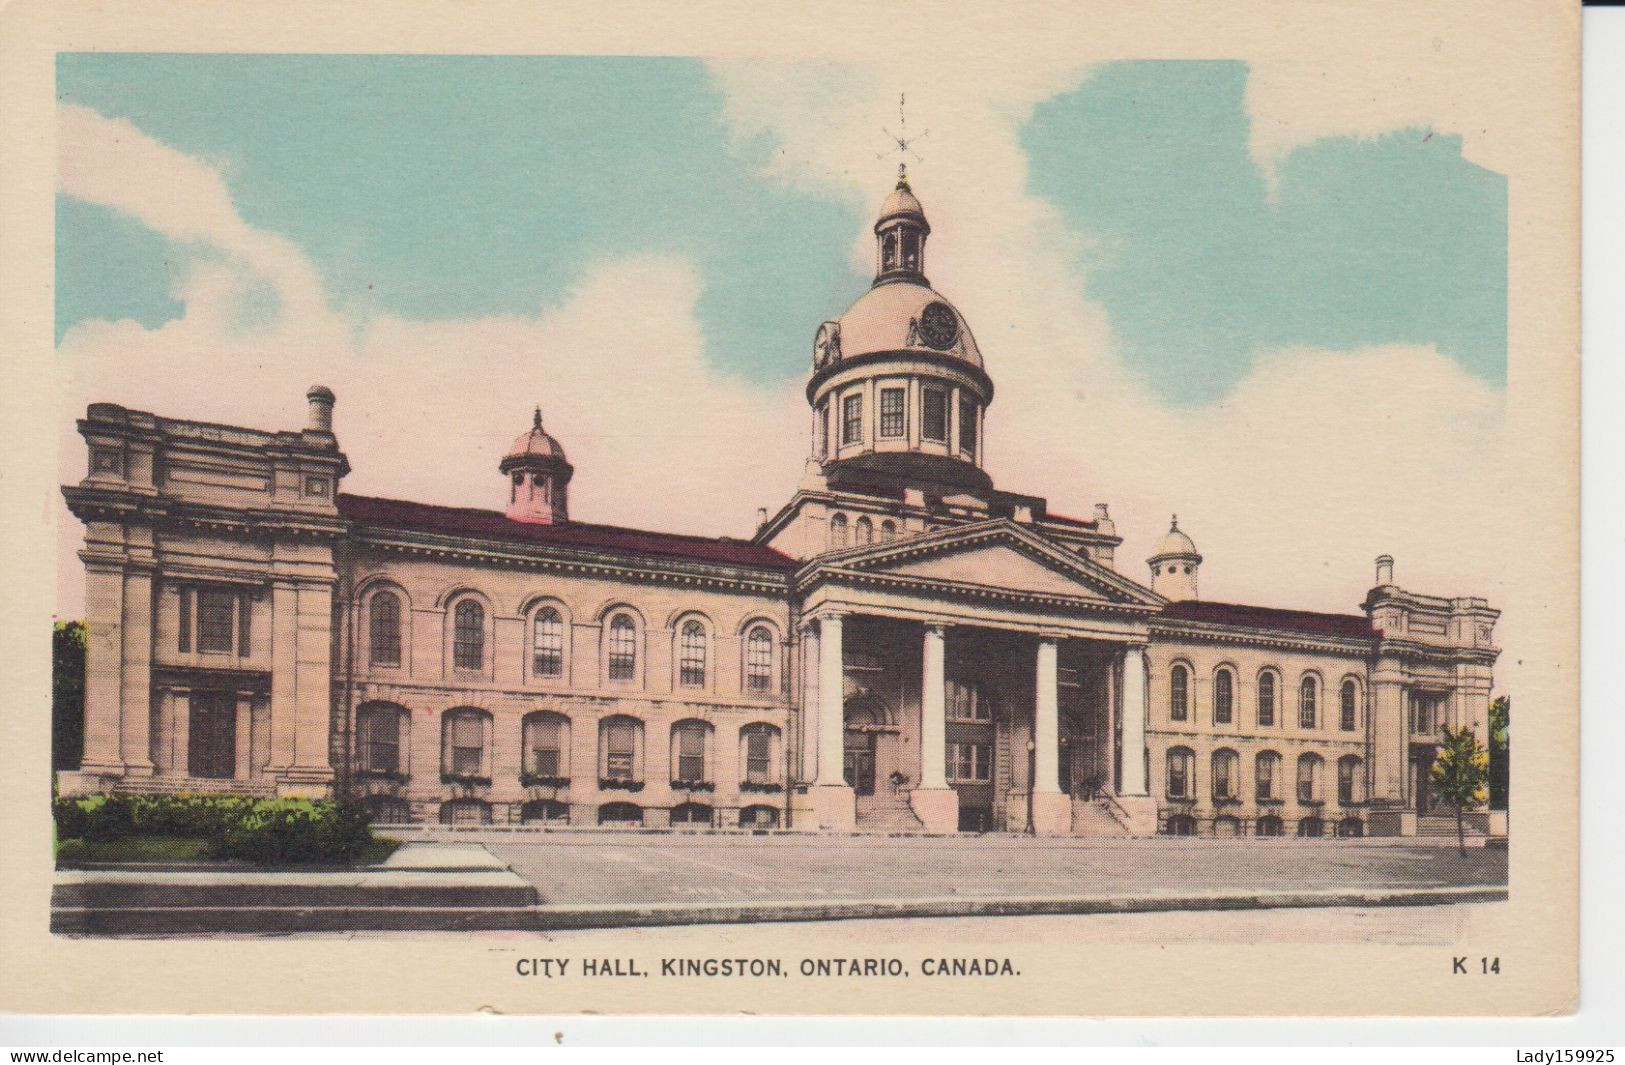
[[[91,795],[52,803],[57,837],[89,844],[182,837],[262,865],[348,863],[372,842],[367,811],[330,798]]]

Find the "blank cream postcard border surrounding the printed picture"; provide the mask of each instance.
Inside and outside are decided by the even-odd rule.
[[[1508,541],[1529,580],[1519,626],[1518,810],[1511,899],[1445,946],[1294,943],[988,943],[975,930],[915,956],[996,946],[1014,980],[570,982],[517,979],[538,935],[396,940],[73,940],[50,937],[47,795],[58,439],[52,343],[55,55],[132,52],[661,54],[866,60],[899,26],[978,63],[1051,52],[1110,59],[1355,54],[1373,83],[1445,80],[1482,96],[1495,130],[1464,154],[1508,177],[1508,424],[1516,506]],[[1550,1015],[1578,984],[1578,241],[1580,8],[1550,0],[1357,3],[796,3],[686,5],[284,2],[258,7],[20,0],[0,10],[0,309],[3,309],[3,584],[0,634],[0,1008],[52,1013],[899,1013],[899,1015]],[[1357,115],[1354,115],[1357,117]],[[306,382],[291,382],[302,387]],[[1396,472],[1402,475],[1402,472]],[[1508,559],[1511,564],[1513,559]],[[1539,592],[1531,592],[1539,589]],[[37,654],[32,654],[37,650]],[[960,922],[964,925],[965,922]],[[687,953],[694,953],[692,930]],[[595,933],[592,951],[658,958],[663,930]],[[819,956],[806,925],[713,927],[717,956]],[[876,948],[886,948],[878,943]],[[546,948],[546,950],[544,950]],[[1450,954],[1495,954],[1495,980],[1451,976]],[[1292,989],[1313,989],[1294,995]],[[1198,993],[1199,992],[1199,993]],[[1294,1003],[1298,1003],[1297,1008]]]

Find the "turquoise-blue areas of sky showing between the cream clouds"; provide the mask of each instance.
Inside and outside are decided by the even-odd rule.
[[[1505,179],[1407,128],[1297,148],[1271,190],[1245,88],[1238,62],[1110,63],[1020,128],[1128,367],[1204,405],[1274,348],[1432,343],[1503,385]],[[730,135],[697,60],[63,55],[58,93],[219,166],[358,315],[536,315],[593,263],[674,254],[712,364],[782,382],[868,280],[866,210],[764,176],[775,145]],[[57,229],[58,338],[180,315],[210,254],[67,197]]]

